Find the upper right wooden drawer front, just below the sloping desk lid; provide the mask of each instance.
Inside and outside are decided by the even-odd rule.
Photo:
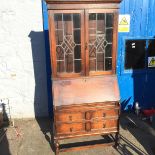
[[[107,118],[118,116],[119,110],[118,109],[101,109],[96,110],[92,113],[92,118]]]

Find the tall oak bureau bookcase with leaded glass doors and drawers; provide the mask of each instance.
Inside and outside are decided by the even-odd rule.
[[[118,144],[120,1],[46,0],[56,154]],[[68,149],[59,145],[63,139],[95,135],[109,135],[113,141]]]

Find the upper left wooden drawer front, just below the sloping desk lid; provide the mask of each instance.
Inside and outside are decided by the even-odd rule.
[[[85,119],[85,114],[80,112],[57,112],[55,114],[56,121],[59,122],[79,122]]]

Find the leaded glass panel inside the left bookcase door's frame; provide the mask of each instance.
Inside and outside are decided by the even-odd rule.
[[[81,72],[80,20],[77,13],[54,15],[58,72]]]

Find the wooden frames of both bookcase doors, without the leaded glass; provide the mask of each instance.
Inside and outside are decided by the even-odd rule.
[[[50,56],[53,78],[68,78],[95,75],[111,75],[116,73],[117,56],[117,36],[118,36],[118,10],[117,9],[79,9],[79,10],[48,10],[49,13],[49,37],[50,37]],[[56,40],[54,13],[79,13],[81,17],[81,73],[57,73],[56,63]],[[93,71],[89,72],[89,13],[113,13],[113,39],[112,39],[112,70],[111,71]]]

